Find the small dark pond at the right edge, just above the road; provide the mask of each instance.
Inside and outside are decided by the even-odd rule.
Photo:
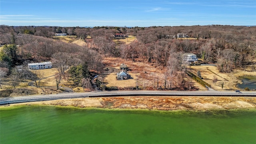
[[[238,88],[256,90],[256,76],[240,76],[239,79],[242,80],[243,83],[237,84]]]

